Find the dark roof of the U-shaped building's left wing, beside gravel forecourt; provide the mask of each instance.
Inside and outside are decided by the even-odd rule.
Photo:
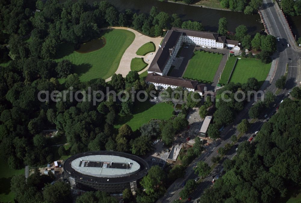
[[[157,51],[153,61],[151,62],[148,71],[162,73],[166,63],[168,62],[170,55],[172,54],[172,49],[175,48],[179,38],[181,37],[182,32],[175,32],[173,30],[168,30],[161,47]]]

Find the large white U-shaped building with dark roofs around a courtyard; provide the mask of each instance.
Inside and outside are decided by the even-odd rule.
[[[240,49],[238,41],[227,40],[226,37],[219,36],[217,33],[173,27],[167,31],[159,50],[147,70],[148,75],[145,79],[147,84],[154,84],[158,90],[163,90],[167,87],[172,89],[183,87],[189,92],[198,91],[200,95],[203,95],[204,84],[195,80],[166,76],[183,43],[218,49],[223,49],[224,47],[233,47],[235,50]]]

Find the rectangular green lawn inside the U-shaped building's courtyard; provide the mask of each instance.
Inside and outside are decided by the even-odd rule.
[[[190,59],[184,78],[211,83],[214,79],[223,55],[204,51],[195,51]]]

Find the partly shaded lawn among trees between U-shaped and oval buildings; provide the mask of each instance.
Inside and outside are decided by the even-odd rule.
[[[135,102],[133,115],[120,116],[115,128],[123,124],[128,124],[133,131],[140,128],[144,123],[151,119],[167,120],[172,116],[173,108],[167,103],[151,104],[148,100],[145,102]]]

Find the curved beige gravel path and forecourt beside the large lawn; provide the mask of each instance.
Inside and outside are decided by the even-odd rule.
[[[135,34],[135,39],[132,42],[132,44],[126,49],[124,52],[123,56],[121,57],[121,60],[119,62],[118,69],[116,70],[116,74],[122,74],[123,77],[126,77],[126,75],[131,71],[131,61],[133,58],[138,57],[138,58],[144,58],[144,61],[146,62],[146,59],[150,59],[148,62],[146,62],[148,65],[146,68],[144,68],[142,71],[139,72],[141,74],[143,71],[147,70],[149,64],[151,61],[154,59],[157,50],[159,49],[159,44],[161,43],[163,37],[148,37],[146,35],[141,34],[140,32],[137,32],[134,29],[127,28],[127,27],[108,27],[108,28],[102,28],[102,30],[106,29],[125,29],[133,32]],[[145,43],[152,41],[155,46],[156,46],[156,51],[153,52],[151,55],[150,53],[147,53],[145,56],[138,56],[136,54],[136,51]],[[106,82],[110,81],[111,77],[106,79]]]

